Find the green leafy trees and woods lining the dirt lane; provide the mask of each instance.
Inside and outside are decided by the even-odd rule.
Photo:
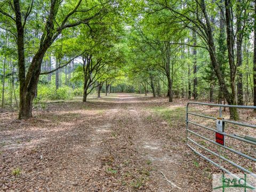
[[[29,118],[33,101],[102,90],[256,106],[255,15],[243,0],[4,0],[1,106]]]

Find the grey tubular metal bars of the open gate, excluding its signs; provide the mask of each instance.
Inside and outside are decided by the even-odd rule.
[[[206,159],[207,161],[209,161],[210,163],[212,163],[213,165],[219,167],[219,169],[221,169],[222,171],[228,173],[228,174],[232,174],[230,171],[228,171],[225,167],[221,166],[221,161],[226,161],[228,162],[229,164],[237,167],[238,169],[244,171],[245,173],[249,173],[251,174],[253,177],[256,178],[256,174],[253,173],[252,171],[250,170],[247,170],[245,169],[244,167],[238,165],[237,163],[233,162],[233,161],[230,161],[229,159],[225,158],[224,156],[221,156],[221,149],[224,148],[224,149],[227,149],[237,155],[240,155],[240,156],[243,156],[247,159],[249,159],[250,161],[253,161],[253,162],[256,162],[256,158],[254,157],[251,157],[249,155],[246,155],[244,153],[241,153],[240,151],[238,150],[235,150],[235,149],[232,149],[230,147],[227,147],[225,146],[225,143],[223,145],[221,145],[220,143],[214,141],[214,140],[211,140],[209,138],[206,138],[204,137],[203,135],[199,134],[199,133],[196,133],[195,131],[192,131],[189,129],[189,124],[193,124],[193,125],[196,125],[196,126],[199,126],[199,127],[202,127],[206,130],[210,130],[212,132],[215,133],[220,133],[224,137],[229,137],[229,138],[233,138],[233,139],[237,139],[239,141],[243,141],[243,142],[246,142],[246,143],[250,143],[251,145],[254,145],[256,147],[256,138],[254,137],[251,137],[250,135],[245,135],[245,136],[242,136],[242,135],[238,135],[238,134],[228,134],[225,132],[225,130],[223,129],[222,131],[218,131],[216,129],[212,129],[211,127],[207,127],[207,126],[204,126],[204,125],[201,125],[201,124],[198,124],[198,123],[195,123],[195,122],[192,122],[190,121],[189,119],[189,115],[193,115],[193,116],[198,116],[198,117],[202,117],[202,118],[207,118],[207,119],[212,119],[212,120],[215,120],[217,121],[217,118],[214,118],[214,117],[210,117],[210,116],[206,116],[206,115],[202,115],[202,114],[197,114],[197,113],[192,113],[192,112],[189,112],[189,105],[199,105],[199,106],[213,106],[213,107],[219,107],[219,117],[222,118],[222,108],[223,107],[229,107],[229,108],[243,108],[243,109],[256,109],[256,107],[254,106],[234,106],[234,105],[221,105],[221,104],[212,104],[212,103],[202,103],[202,102],[188,102],[187,103],[187,110],[186,110],[186,131],[187,131],[187,145],[188,147],[193,150],[197,155],[203,157],[204,159]],[[251,125],[251,124],[246,124],[246,123],[242,123],[242,122],[235,122],[235,121],[230,121],[230,120],[226,120],[226,119],[222,119],[222,122],[225,124],[225,123],[229,123],[229,124],[235,124],[235,125],[239,125],[239,126],[244,126],[244,127],[251,127],[253,129],[255,129],[256,131],[256,125]],[[200,145],[199,143],[197,143],[196,141],[194,141],[192,138],[189,137],[189,133],[190,134],[193,134],[193,135],[196,135],[197,137],[201,138],[201,139],[204,139],[206,141],[209,141],[211,143],[213,143],[214,145],[218,146],[219,147],[219,153],[215,153],[214,151]],[[224,140],[224,139],[223,139]],[[219,157],[219,163],[216,163],[214,161],[212,161],[210,158],[204,156],[203,154],[199,153],[195,148],[193,148],[191,145],[190,145],[190,142],[193,143],[194,145],[196,145],[197,147],[209,152],[210,154],[212,155],[215,155],[217,157]]]

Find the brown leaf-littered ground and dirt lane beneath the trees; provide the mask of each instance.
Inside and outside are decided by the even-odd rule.
[[[212,191],[221,172],[186,146],[187,100],[78,99],[0,116],[0,191]]]

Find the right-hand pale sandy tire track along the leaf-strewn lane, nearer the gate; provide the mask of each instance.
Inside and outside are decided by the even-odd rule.
[[[182,189],[177,186],[177,182],[171,181],[171,183],[167,183],[161,174],[161,172],[166,172],[168,173],[167,175],[177,174],[177,166],[173,165],[175,165],[177,158],[180,158],[180,156],[167,155],[166,151],[163,149],[164,143],[162,143],[162,140],[154,138],[154,124],[149,124],[145,121],[143,109],[136,106],[132,108],[132,110],[129,110],[130,115],[135,119],[135,131],[136,134],[139,135],[137,146],[140,150],[140,154],[145,154],[141,158],[148,161],[148,163],[152,162],[152,165],[156,169],[152,172],[151,178],[157,181],[157,191],[182,191]]]

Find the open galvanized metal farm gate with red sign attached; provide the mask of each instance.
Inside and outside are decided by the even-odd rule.
[[[205,114],[199,114],[189,111],[189,106],[195,105],[195,106],[211,106],[211,107],[217,107],[217,110],[219,110],[219,115],[217,117],[211,117]],[[236,121],[230,121],[227,119],[222,118],[222,109],[224,107],[229,108],[240,108],[240,109],[256,109],[256,107],[253,106],[230,106],[230,105],[218,105],[218,104],[212,104],[212,103],[200,103],[200,102],[189,102],[187,103],[187,111],[186,111],[186,124],[187,124],[187,145],[190,149],[192,149],[196,154],[203,157],[207,161],[211,162],[213,165],[219,167],[221,170],[223,170],[226,173],[231,173],[225,166],[222,166],[222,162],[227,162],[225,164],[231,164],[238,169],[242,170],[245,173],[251,174],[253,177],[256,178],[255,169],[256,169],[256,125],[242,123],[242,122],[236,122]],[[219,108],[219,109],[218,109]],[[199,117],[199,119],[212,119],[215,121],[214,127],[209,127],[206,125],[203,125],[202,121],[201,123],[196,123],[192,121],[193,117]],[[205,122],[204,121],[204,122]],[[210,120],[209,120],[210,121]],[[229,124],[232,126],[243,126],[250,129],[253,129],[255,131],[253,135],[239,135],[239,134],[233,134],[233,133],[227,133],[225,131],[225,125]],[[197,131],[193,131],[190,129],[191,125],[193,127],[197,127]],[[246,129],[247,129],[246,128]],[[202,135],[200,131],[207,130],[207,132],[210,131],[210,134]],[[236,129],[238,130],[238,129]],[[211,135],[212,137],[215,135],[215,140],[207,138],[206,135]],[[193,139],[194,138],[194,139]],[[225,143],[225,139],[234,139],[238,140],[238,142],[246,143],[246,145],[250,145],[252,147],[252,151],[254,151],[252,154],[250,153],[242,153],[241,151],[234,149],[234,146],[228,146]],[[210,143],[208,146],[204,146],[202,143],[198,142],[198,139],[206,141],[207,143]],[[236,141],[235,141],[236,142]],[[194,147],[195,146],[195,147]],[[215,152],[211,150],[210,148],[215,147],[217,150]],[[197,149],[196,149],[197,148]],[[249,147],[249,149],[251,149]],[[244,166],[239,165],[236,161],[232,161],[230,158],[226,157],[225,155],[222,155],[222,150],[228,151],[229,154],[234,154],[236,156],[239,156],[241,158],[245,158],[246,164],[248,161],[248,164],[254,165],[253,169],[246,169]],[[201,152],[200,152],[201,151]],[[255,153],[255,154],[254,154]],[[207,155],[206,155],[207,154]],[[206,157],[207,156],[207,157]],[[215,161],[214,161],[214,160]],[[218,162],[216,162],[218,159]],[[237,158],[236,158],[237,159]],[[238,159],[237,159],[238,161]]]

